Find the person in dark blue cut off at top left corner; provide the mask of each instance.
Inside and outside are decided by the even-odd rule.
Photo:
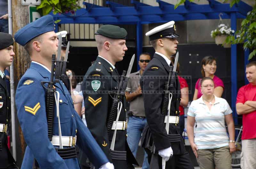
[[[8,33],[8,0],[0,0],[0,32]]]

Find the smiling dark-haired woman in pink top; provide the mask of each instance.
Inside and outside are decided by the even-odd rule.
[[[216,63],[216,59],[212,56],[205,56],[202,60],[202,68],[201,68],[201,73],[203,75],[203,77],[211,77],[213,82],[214,82],[214,95],[216,95],[217,97],[221,97],[223,90],[224,90],[224,84],[223,81],[218,78],[217,76],[215,76],[215,72],[216,72],[216,68],[217,68],[217,63]],[[199,78],[196,82],[196,87],[195,87],[195,93],[194,93],[194,97],[193,100],[196,100],[198,98],[200,98],[203,94],[201,92],[201,78]]]

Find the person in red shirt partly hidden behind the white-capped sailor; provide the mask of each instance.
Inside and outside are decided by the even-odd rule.
[[[172,63],[174,63],[174,57],[171,57],[171,61]],[[176,72],[180,73],[180,64],[177,64],[177,68],[176,68]],[[188,106],[188,83],[187,81],[178,76],[179,78],[179,82],[180,82],[180,95],[181,95],[181,100],[180,100],[180,135],[182,136],[182,133],[184,131],[184,127],[185,127],[185,117],[184,117],[184,107]]]

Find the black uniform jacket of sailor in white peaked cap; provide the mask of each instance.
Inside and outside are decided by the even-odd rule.
[[[154,141],[156,151],[172,146],[173,154],[179,155],[185,152],[184,143],[180,137],[179,124],[169,124],[169,135],[165,129],[164,119],[161,115],[164,100],[164,89],[168,81],[170,66],[166,60],[158,54],[148,63],[140,78],[140,86],[143,91],[144,107],[148,126],[145,127],[142,136],[142,146],[148,148]],[[172,93],[170,116],[179,116],[180,83],[177,78],[174,86],[169,87]],[[151,134],[150,134],[151,133]],[[150,136],[151,135],[151,136]]]

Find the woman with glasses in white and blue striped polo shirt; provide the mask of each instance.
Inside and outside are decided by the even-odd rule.
[[[211,77],[204,77],[200,88],[203,96],[193,101],[188,109],[189,143],[200,169],[232,169],[231,153],[236,151],[232,110],[225,99],[214,95]],[[195,122],[197,127],[194,137]]]

